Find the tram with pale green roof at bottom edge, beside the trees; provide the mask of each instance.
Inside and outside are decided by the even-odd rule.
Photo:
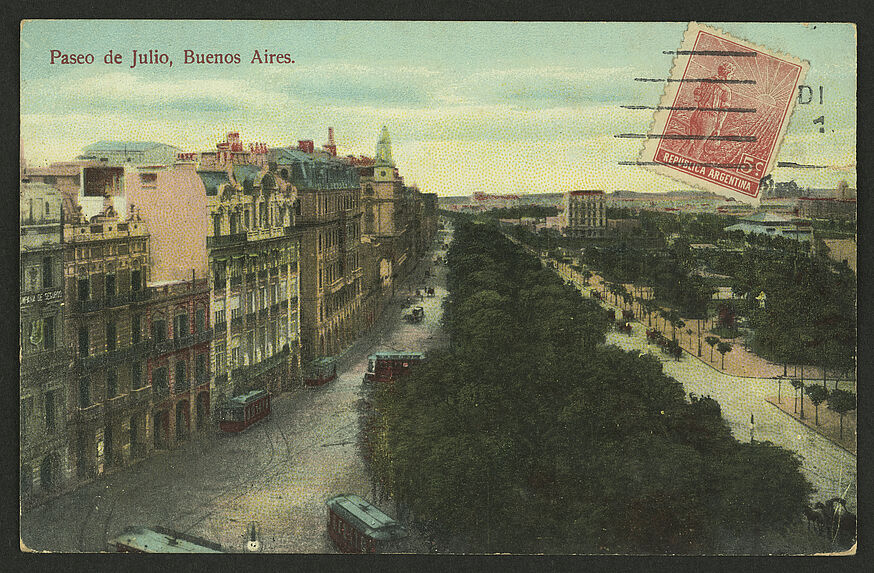
[[[328,535],[343,553],[409,553],[409,531],[354,494],[335,495],[328,507]]]

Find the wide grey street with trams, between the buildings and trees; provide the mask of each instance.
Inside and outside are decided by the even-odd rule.
[[[420,265],[430,263],[432,251]],[[21,518],[23,542],[51,551],[100,551],[127,525],[161,525],[221,543],[245,546],[246,526],[258,522],[265,552],[333,553],[325,530],[325,500],[337,493],[371,498],[371,480],[358,446],[357,402],[367,355],[377,350],[427,350],[441,343],[445,267],[421,302],[425,320],[401,320],[396,293],[371,332],[341,359],[338,378],[273,402],[269,419],[239,435],[209,433],[34,508]],[[415,282],[414,282],[415,281]],[[390,511],[394,508],[390,506]]]

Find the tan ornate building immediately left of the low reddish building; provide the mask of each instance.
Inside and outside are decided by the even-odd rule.
[[[145,455],[152,391],[143,368],[151,341],[142,334],[148,304],[149,234],[132,208],[120,217],[106,198],[86,220],[65,198],[65,332],[70,448],[78,481]]]

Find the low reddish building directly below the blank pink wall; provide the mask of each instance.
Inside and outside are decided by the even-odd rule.
[[[210,285],[206,278],[154,282],[147,309],[154,352],[146,363],[153,405],[152,441],[143,447],[166,449],[210,418]]]

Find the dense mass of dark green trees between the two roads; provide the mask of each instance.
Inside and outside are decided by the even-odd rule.
[[[485,552],[759,552],[798,521],[799,460],[737,442],[601,308],[496,227],[456,222],[452,344],[373,397],[385,492]],[[795,548],[803,551],[806,548]]]

